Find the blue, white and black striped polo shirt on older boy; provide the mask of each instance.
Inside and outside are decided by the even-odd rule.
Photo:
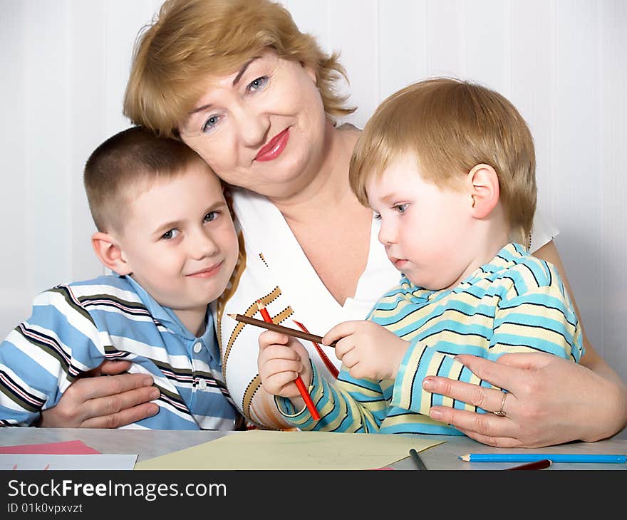
[[[195,338],[175,313],[128,276],[56,286],[0,344],[0,425],[28,426],[55,406],[78,375],[103,360],[152,375],[157,415],[129,425],[155,430],[234,430],[212,315]]]

